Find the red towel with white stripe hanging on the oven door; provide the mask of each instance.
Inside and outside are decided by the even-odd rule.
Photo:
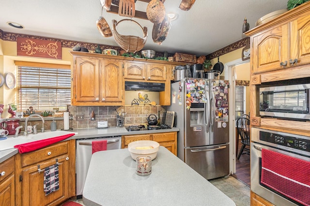
[[[310,162],[262,149],[261,183],[310,206]]]

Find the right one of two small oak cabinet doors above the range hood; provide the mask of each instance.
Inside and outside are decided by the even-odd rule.
[[[165,64],[148,64],[146,70],[147,80],[166,81],[167,66]]]

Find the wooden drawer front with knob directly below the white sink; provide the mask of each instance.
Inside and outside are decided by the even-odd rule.
[[[69,142],[61,142],[55,145],[35,150],[34,152],[21,155],[21,166],[25,167],[37,162],[42,162],[50,158],[66,154],[69,151]]]

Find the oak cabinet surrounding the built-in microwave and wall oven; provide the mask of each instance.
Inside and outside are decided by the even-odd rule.
[[[309,121],[261,117],[259,88],[310,77],[310,3],[246,32],[250,37],[250,127],[310,136]],[[297,59],[297,63],[290,63]],[[281,65],[287,62],[286,66]],[[292,81],[292,82],[293,82]],[[272,206],[251,191],[251,206]]]

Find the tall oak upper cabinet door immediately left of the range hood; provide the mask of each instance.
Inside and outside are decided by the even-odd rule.
[[[123,89],[123,61],[118,59],[105,59],[100,66],[100,90],[102,103],[118,103],[111,105],[122,105],[124,103]]]

